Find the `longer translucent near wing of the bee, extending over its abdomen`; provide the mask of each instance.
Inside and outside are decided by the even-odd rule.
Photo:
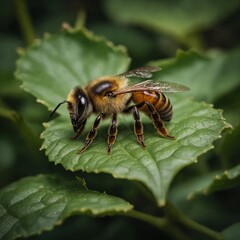
[[[144,82],[137,83],[135,85],[126,86],[113,92],[113,96],[131,93],[131,92],[143,92],[143,91],[157,91],[157,92],[185,92],[189,88],[173,82],[156,82],[153,80],[146,80]]]

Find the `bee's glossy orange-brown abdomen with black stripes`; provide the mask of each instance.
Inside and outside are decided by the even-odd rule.
[[[172,104],[167,96],[161,92],[144,91],[136,92],[132,94],[134,103],[149,102],[151,103],[157,112],[159,113],[163,121],[170,121],[172,118]],[[149,115],[148,107],[144,104],[140,110]]]

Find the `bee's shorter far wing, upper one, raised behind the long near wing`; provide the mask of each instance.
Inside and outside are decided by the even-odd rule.
[[[152,77],[152,72],[157,72],[160,70],[161,68],[156,66],[146,66],[130,70],[128,72],[119,74],[118,76],[127,78],[129,77],[150,78]]]

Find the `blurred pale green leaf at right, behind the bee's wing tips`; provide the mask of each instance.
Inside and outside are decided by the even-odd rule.
[[[240,49],[212,56],[195,51],[179,51],[176,58],[152,61],[163,70],[155,77],[163,81],[178,82],[191,88],[186,96],[213,102],[240,87]],[[226,101],[226,99],[225,99]]]

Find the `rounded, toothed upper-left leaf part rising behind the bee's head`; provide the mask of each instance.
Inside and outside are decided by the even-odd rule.
[[[125,48],[86,30],[68,30],[46,37],[22,53],[16,77],[26,91],[53,109],[76,85],[124,72],[128,64]],[[63,109],[59,112],[67,114]]]

